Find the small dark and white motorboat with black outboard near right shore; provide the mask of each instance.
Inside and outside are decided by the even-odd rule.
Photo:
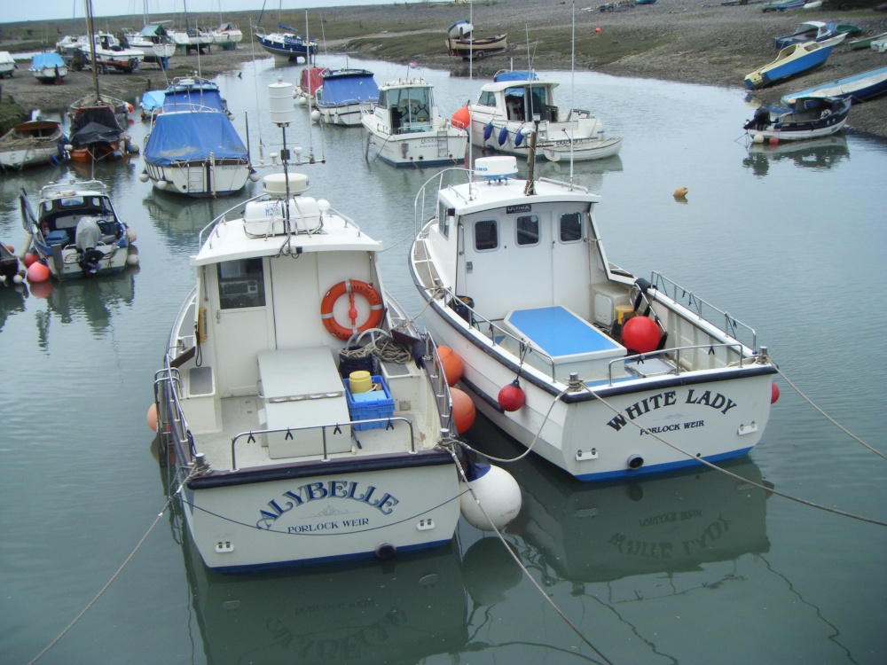
[[[844,129],[851,104],[849,99],[836,97],[798,97],[788,113],[776,117],[766,106],[759,106],[742,129],[757,143],[773,137],[780,141],[829,137]]]

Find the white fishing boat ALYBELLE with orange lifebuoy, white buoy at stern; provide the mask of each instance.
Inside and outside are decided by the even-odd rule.
[[[281,126],[292,88],[270,86]],[[200,557],[224,572],[436,548],[467,491],[441,360],[385,292],[381,242],[307,184],[266,176],[266,196],[200,232],[154,383],[161,459]],[[496,487],[482,505],[504,524],[520,490],[484,470],[472,482]]]

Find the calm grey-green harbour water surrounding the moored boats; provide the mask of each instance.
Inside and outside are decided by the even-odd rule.
[[[344,59],[326,59],[342,66]],[[403,66],[349,61],[384,82]],[[267,85],[300,68],[271,59],[218,79],[244,116],[254,159],[279,150]],[[255,73],[255,76],[254,76]],[[418,70],[447,114],[482,81]],[[753,325],[807,396],[884,450],[887,145],[751,150],[744,91],[576,74],[561,106],[592,109],[624,137],[620,157],[577,164],[603,195],[608,257],[661,270]],[[156,76],[153,76],[156,78]],[[570,98],[574,98],[570,103]],[[261,110],[260,110],[261,109]],[[130,133],[141,144],[145,125]],[[430,173],[364,160],[358,129],[287,130],[327,163],[306,168],[389,249],[386,286],[418,313],[406,268],[412,202]],[[525,168],[521,164],[521,168]],[[152,192],[140,158],[99,165],[138,234],[140,267],[0,289],[0,661],[27,663],[108,582],[165,503],[145,412],[169,326],[192,288],[200,229],[238,199]],[[569,177],[568,164],[543,164]],[[271,172],[270,168],[260,173]],[[20,246],[17,194],[82,167],[0,176],[0,239]],[[686,186],[687,202],[672,198]],[[515,267],[519,270],[519,267]],[[507,279],[507,275],[502,275]],[[781,399],[750,458],[731,470],[820,505],[887,520],[887,461],[853,442],[777,379]],[[516,454],[489,423],[471,438]],[[507,540],[584,644],[490,536],[460,525],[452,548],[391,567],[224,577],[204,570],[167,512],[136,556],[43,663],[866,663],[884,662],[887,529],[799,505],[715,472],[585,485],[537,459],[509,469],[524,510]],[[195,565],[194,561],[198,563]]]

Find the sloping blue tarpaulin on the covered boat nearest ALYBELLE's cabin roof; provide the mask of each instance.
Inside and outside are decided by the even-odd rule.
[[[217,111],[167,113],[157,116],[145,145],[145,161],[169,166],[177,161],[247,159],[247,148],[228,116]]]

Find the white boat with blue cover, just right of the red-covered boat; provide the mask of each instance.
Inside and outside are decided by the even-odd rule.
[[[321,74],[323,85],[314,93],[315,120],[328,125],[359,127],[361,118],[373,113],[379,86],[367,69],[330,69]],[[313,112],[312,112],[313,113]]]

